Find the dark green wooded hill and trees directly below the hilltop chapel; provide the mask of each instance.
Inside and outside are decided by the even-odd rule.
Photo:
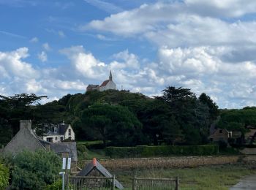
[[[169,86],[149,98],[129,91],[67,94],[39,104],[45,96],[17,94],[0,98],[0,143],[18,132],[20,119],[31,119],[38,134],[44,123],[71,123],[77,140],[103,140],[105,145],[198,145],[208,142],[219,109],[206,95]]]

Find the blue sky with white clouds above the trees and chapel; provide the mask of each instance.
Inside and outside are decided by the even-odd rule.
[[[256,106],[256,1],[0,0],[1,95],[50,102],[110,70],[119,90]]]

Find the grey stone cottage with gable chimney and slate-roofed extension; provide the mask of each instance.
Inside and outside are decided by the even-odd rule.
[[[60,157],[69,157],[72,161],[72,168],[76,168],[78,161],[76,142],[47,142],[38,137],[31,129],[31,120],[21,120],[20,130],[12,138],[12,140],[4,147],[4,154],[15,156],[20,151],[37,151],[39,149],[45,151],[53,151]]]

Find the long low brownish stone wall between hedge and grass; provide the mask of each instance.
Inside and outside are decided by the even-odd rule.
[[[177,168],[197,167],[214,164],[235,164],[241,160],[241,156],[181,156],[169,158],[145,158],[145,159],[100,159],[108,170],[131,170],[147,168]],[[80,162],[84,167],[89,161]]]

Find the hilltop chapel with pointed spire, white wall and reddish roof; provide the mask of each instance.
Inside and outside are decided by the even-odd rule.
[[[116,90],[116,83],[112,80],[112,72],[110,71],[108,80],[105,80],[100,86],[99,85],[89,85],[86,88],[86,91],[107,91],[107,90]]]

